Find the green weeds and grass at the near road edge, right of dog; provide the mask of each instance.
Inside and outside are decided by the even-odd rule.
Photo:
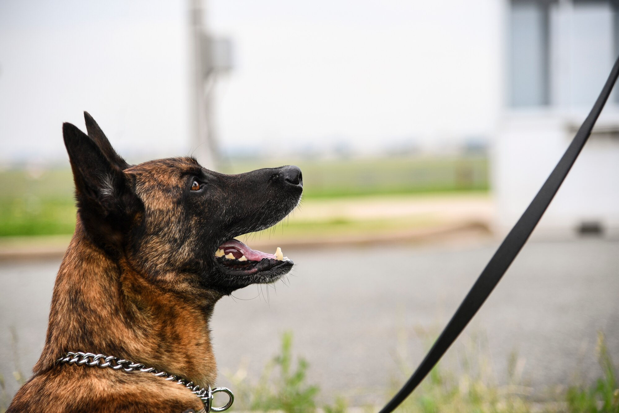
[[[430,335],[422,332],[427,341]],[[428,342],[428,345],[430,342]],[[522,380],[524,360],[512,353],[508,359],[508,376],[499,384],[488,357],[485,340],[475,335],[464,335],[457,350],[457,373],[444,368],[440,362],[425,378],[420,387],[396,411],[410,413],[619,413],[619,388],[615,367],[600,333],[597,356],[602,375],[590,385],[573,386],[568,391],[549,391],[542,402],[533,402],[532,388]],[[399,346],[399,348],[401,348]],[[326,357],[332,357],[327,355]],[[406,360],[405,352],[397,352],[400,374],[392,379],[386,402],[412,373],[415,367]],[[285,413],[315,412],[317,407],[327,413],[344,412],[347,401],[335,397],[333,405],[319,406],[320,389],[306,383],[309,365],[302,358],[293,367],[292,333],[282,336],[280,353],[267,363],[257,381],[245,374],[228,378],[233,383],[236,399],[234,411],[282,411]],[[241,370],[240,370],[241,371]],[[374,412],[381,406],[365,406]]]

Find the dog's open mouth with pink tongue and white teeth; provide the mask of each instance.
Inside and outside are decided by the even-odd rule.
[[[215,259],[220,269],[229,274],[253,275],[261,273],[258,282],[272,282],[287,273],[293,266],[292,260],[284,257],[282,249],[277,247],[275,254],[251,249],[238,241],[230,239],[215,251]]]

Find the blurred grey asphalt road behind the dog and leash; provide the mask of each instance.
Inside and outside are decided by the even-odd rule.
[[[403,379],[399,355],[406,355],[410,368],[420,361],[495,247],[284,251],[297,263],[286,283],[251,286],[217,304],[212,330],[220,384],[239,369],[257,381],[279,349],[282,332],[293,331],[294,350],[310,365],[308,381],[321,386],[323,397],[344,394],[352,404],[379,404],[389,383]],[[29,373],[43,345],[58,265],[59,260],[0,265],[0,373],[9,396],[17,389],[12,372]],[[617,365],[618,298],[619,242],[530,243],[467,336],[477,337],[473,347],[491,358],[498,381],[516,352],[523,380],[542,394],[549,386],[599,375],[598,331],[605,332]],[[420,330],[427,334],[420,337]],[[466,341],[450,351],[451,368]]]

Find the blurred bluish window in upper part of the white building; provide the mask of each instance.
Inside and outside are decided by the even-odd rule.
[[[511,0],[509,105],[590,107],[619,53],[618,15],[617,0]]]

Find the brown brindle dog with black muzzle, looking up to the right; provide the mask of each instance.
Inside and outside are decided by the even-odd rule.
[[[201,411],[187,388],[111,368],[60,364],[67,351],[113,355],[214,386],[209,319],[217,300],[292,269],[233,239],[269,228],[303,191],[295,166],[238,175],[193,158],[129,165],[84,113],[64,123],[78,206],[33,376],[8,412]]]

